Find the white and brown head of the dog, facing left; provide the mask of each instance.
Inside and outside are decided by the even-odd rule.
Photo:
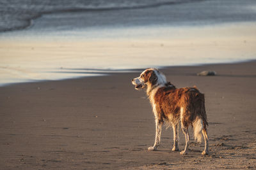
[[[145,69],[139,77],[132,79],[132,84],[135,85],[136,90],[154,85],[164,85],[164,83],[166,83],[164,74],[154,68]]]

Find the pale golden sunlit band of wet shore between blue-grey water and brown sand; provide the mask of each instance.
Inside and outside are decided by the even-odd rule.
[[[95,39],[86,39],[83,34],[90,32],[83,31],[79,32],[81,36],[74,37],[47,35],[44,38],[1,39],[0,83],[77,77],[83,76],[84,69],[92,69],[84,74],[88,76],[95,69],[140,69],[251,60],[256,56],[254,30],[256,25],[251,23],[202,28],[119,29],[108,36],[105,30],[105,33],[101,32],[101,38],[96,36]],[[131,37],[130,31],[134,34]],[[80,69],[80,74],[72,69]]]

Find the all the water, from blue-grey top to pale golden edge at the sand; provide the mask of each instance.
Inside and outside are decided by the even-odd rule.
[[[0,85],[255,59],[255,0],[0,0]]]

